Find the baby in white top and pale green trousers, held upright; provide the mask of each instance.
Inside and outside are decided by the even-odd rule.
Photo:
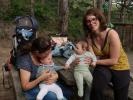
[[[76,85],[78,88],[78,96],[83,97],[83,85],[84,80],[87,83],[88,87],[91,88],[92,83],[92,74],[89,70],[89,65],[85,63],[86,57],[92,59],[92,66],[96,65],[96,57],[91,52],[87,51],[87,42],[86,41],[78,41],[74,47],[75,53],[71,55],[71,57],[65,63],[65,69],[70,68],[70,64],[75,61],[75,59],[79,59],[79,63],[74,67],[74,78],[76,80]]]

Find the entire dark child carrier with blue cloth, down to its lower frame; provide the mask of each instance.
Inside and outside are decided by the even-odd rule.
[[[2,74],[3,74],[3,86],[6,89],[11,88],[10,79],[8,79],[9,71],[11,67],[16,68],[16,59],[18,55],[20,55],[20,49],[32,42],[36,38],[36,31],[38,29],[37,20],[32,16],[19,16],[15,18],[15,34],[13,35],[13,48],[10,52],[10,57],[7,62],[2,66]],[[7,83],[6,83],[6,80]]]

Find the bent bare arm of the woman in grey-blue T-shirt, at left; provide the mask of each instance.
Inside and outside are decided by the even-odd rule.
[[[49,75],[50,73],[48,71],[44,71],[41,76],[30,82],[31,73],[24,69],[20,69],[20,78],[23,90],[32,89],[33,87],[37,86],[38,83],[40,83],[42,80],[46,80]]]

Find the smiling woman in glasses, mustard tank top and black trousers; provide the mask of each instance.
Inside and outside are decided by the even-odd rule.
[[[129,63],[118,33],[107,27],[106,18],[96,8],[87,10],[83,28],[89,50],[97,56],[93,72],[91,100],[104,100],[103,91],[112,82],[114,100],[128,100]],[[88,63],[91,63],[88,59]]]

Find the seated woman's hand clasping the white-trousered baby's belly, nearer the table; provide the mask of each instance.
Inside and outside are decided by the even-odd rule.
[[[46,84],[55,83],[58,79],[58,74],[56,72],[51,72],[50,77],[48,77],[45,81]]]

